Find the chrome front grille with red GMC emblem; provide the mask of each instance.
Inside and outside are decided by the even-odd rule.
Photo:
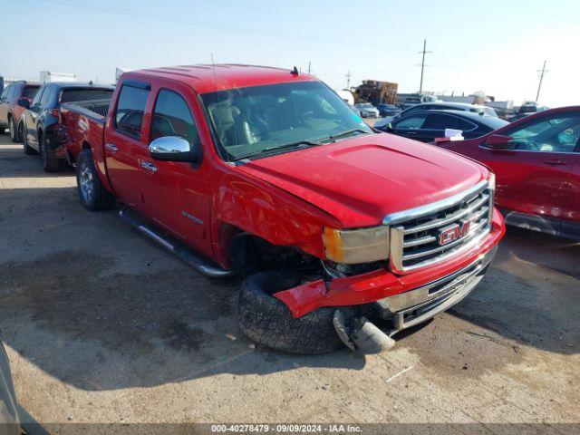
[[[386,217],[391,268],[408,272],[457,256],[488,234],[493,191],[483,181],[455,197]]]

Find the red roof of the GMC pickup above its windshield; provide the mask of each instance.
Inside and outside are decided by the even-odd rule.
[[[181,65],[163,68],[135,70],[122,75],[123,79],[149,75],[163,77],[188,84],[195,92],[207,93],[234,88],[246,88],[284,82],[314,82],[313,76],[293,74],[290,68],[246,65],[238,63],[217,63],[201,65]]]

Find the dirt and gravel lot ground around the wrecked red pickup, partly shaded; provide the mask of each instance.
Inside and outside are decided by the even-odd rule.
[[[238,283],[90,213],[0,138],[0,331],[47,422],[579,422],[580,245],[509,229],[487,277],[391,353],[293,356],[237,329]],[[403,372],[404,371],[404,372]]]

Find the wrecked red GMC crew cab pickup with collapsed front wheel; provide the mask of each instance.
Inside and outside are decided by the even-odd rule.
[[[478,284],[505,232],[487,168],[373,131],[295,69],[136,71],[108,109],[63,110],[82,205],[117,200],[199,271],[245,276],[240,328],[276,349],[360,346],[373,315],[387,338],[429,319]]]

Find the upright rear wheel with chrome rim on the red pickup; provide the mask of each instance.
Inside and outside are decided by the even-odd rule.
[[[82,207],[99,211],[115,206],[115,198],[102,186],[91,150],[82,150],[76,161],[76,186]]]

